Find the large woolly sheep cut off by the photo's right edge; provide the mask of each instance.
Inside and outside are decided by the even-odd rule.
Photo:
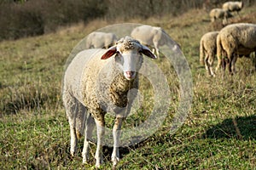
[[[216,71],[218,71],[221,65],[223,65],[225,70],[225,66],[228,64],[230,74],[236,73],[236,59],[238,56],[248,56],[255,52],[255,40],[255,24],[239,23],[224,27],[218,32],[217,37],[218,65]],[[227,59],[224,58],[225,56],[227,56]]]

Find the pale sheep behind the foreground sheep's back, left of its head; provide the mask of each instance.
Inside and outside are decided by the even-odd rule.
[[[116,35],[111,32],[94,31],[87,37],[86,48],[109,48],[116,41]]]

